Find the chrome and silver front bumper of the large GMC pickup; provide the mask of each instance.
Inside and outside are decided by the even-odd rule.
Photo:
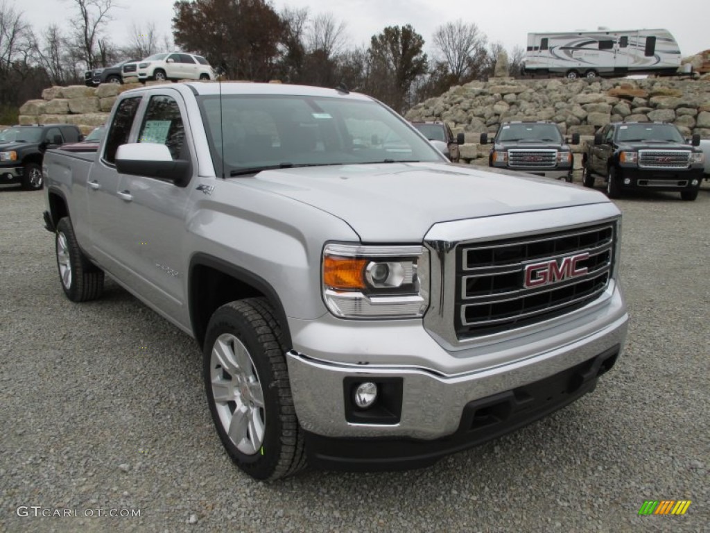
[[[454,357],[435,342],[421,323],[378,328],[340,321],[341,325],[330,322],[310,331],[308,326],[300,330],[292,328],[295,350],[288,352],[286,358],[296,414],[306,431],[327,437],[431,440],[452,435],[459,428],[461,414],[469,402],[538,382],[616,345],[623,346],[628,315],[617,289],[613,289],[604,308],[603,312],[587,313],[557,330],[550,328],[539,335],[529,335],[523,339],[524,344],[520,344],[519,338],[511,340],[510,343],[517,346],[513,351],[518,356],[487,366],[481,365],[481,361],[490,362],[491,358],[476,357],[475,354],[481,352],[475,348],[469,352],[470,356],[459,352]],[[599,327],[600,323],[605,325]],[[300,345],[299,340],[311,340],[312,350]],[[483,350],[488,355],[510,352],[513,349],[510,343],[488,345]],[[334,355],[332,358],[350,362],[328,360],[324,351],[328,345]],[[375,347],[377,354],[373,354]],[[351,350],[347,355],[342,351],[345,348]],[[389,357],[382,355],[388,351]],[[422,364],[425,359],[431,364]],[[346,377],[363,381],[377,377],[403,378],[399,423],[346,421]]]

